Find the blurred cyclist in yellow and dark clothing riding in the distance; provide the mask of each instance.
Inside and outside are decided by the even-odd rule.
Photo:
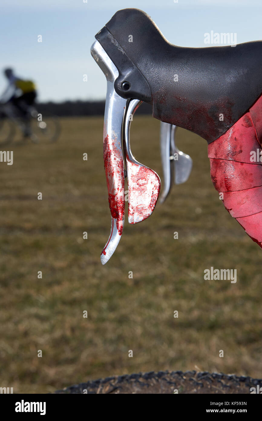
[[[13,69],[5,69],[4,75],[8,79],[8,86],[0,97],[0,103],[12,105],[15,117],[24,122],[24,137],[30,137],[31,108],[37,97],[36,86],[32,80],[24,80],[14,75]]]

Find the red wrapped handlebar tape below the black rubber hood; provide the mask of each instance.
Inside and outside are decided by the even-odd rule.
[[[229,213],[262,248],[262,96],[225,134],[208,145],[211,178]],[[260,155],[259,155],[260,156]]]

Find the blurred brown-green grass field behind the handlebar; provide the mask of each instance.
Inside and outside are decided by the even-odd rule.
[[[13,165],[0,163],[0,386],[46,393],[165,369],[261,378],[262,251],[219,200],[206,141],[178,129],[190,179],[148,220],[126,221],[102,266],[111,224],[103,118],[61,123],[58,143],[10,145]],[[161,177],[159,121],[135,117],[131,147]],[[237,269],[237,282],[204,280],[211,266]]]

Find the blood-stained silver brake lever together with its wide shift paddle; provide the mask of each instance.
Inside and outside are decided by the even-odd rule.
[[[130,150],[130,124],[142,101],[130,101],[116,93],[114,83],[119,75],[118,70],[98,41],[93,43],[91,54],[107,80],[103,155],[111,212],[111,233],[101,253],[101,263],[106,264],[119,244],[124,227],[124,161],[127,168],[130,224],[136,224],[151,215],[159,196],[160,179],[153,170],[135,160]]]

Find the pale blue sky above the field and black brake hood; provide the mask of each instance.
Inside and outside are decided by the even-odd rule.
[[[39,99],[103,99],[106,79],[90,55],[95,34],[122,8],[148,13],[169,42],[204,47],[206,32],[262,39],[261,0],[1,0],[0,63],[36,81]],[[42,35],[42,43],[37,42]],[[83,82],[87,74],[87,82]],[[0,75],[0,90],[5,80]]]

